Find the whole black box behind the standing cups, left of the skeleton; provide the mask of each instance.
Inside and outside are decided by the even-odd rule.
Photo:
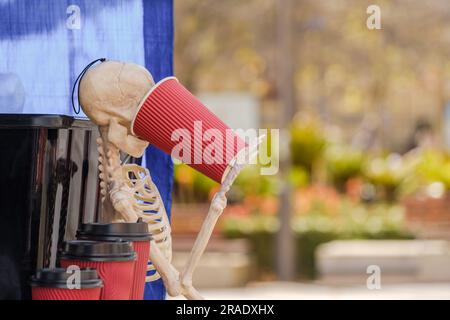
[[[49,266],[55,208],[61,246],[68,216],[82,221],[86,188],[71,208],[70,181],[82,170],[84,185],[96,169],[87,166],[93,154],[85,152],[76,163],[70,149],[74,130],[86,132],[78,145],[89,145],[92,128],[90,121],[67,116],[0,114],[0,299],[31,299],[30,276]]]

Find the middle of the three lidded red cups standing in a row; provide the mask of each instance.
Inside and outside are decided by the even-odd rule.
[[[133,287],[136,253],[128,241],[73,240],[66,243],[61,266],[95,268],[103,280],[101,300],[129,300]]]

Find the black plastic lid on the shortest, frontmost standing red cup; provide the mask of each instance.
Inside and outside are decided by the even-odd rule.
[[[33,287],[49,287],[69,289],[67,280],[73,275],[64,268],[40,269],[31,277],[30,285]],[[98,277],[97,270],[91,268],[80,269],[81,288],[103,287],[102,280]]]

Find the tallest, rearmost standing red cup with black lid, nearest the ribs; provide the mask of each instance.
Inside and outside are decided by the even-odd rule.
[[[77,232],[77,238],[95,241],[116,241],[118,239],[130,241],[137,253],[130,299],[142,300],[144,298],[151,240],[147,223],[141,221],[136,223],[86,223],[81,225]]]

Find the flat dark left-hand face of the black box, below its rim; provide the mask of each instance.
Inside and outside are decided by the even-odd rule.
[[[0,130],[0,299],[29,295],[39,226],[38,139],[34,130]]]

